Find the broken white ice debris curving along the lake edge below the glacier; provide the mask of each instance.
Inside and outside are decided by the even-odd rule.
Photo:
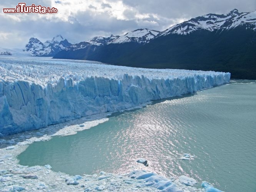
[[[178,178],[166,178],[145,170],[133,170],[126,174],[100,172],[93,175],[68,175],[54,172],[50,165],[21,166],[17,156],[29,144],[45,141],[53,136],[68,136],[77,131],[90,129],[99,123],[108,121],[109,113],[76,119],[47,128],[22,132],[0,139],[0,190],[1,191],[172,191],[203,192],[213,188],[207,182],[204,188],[193,185],[196,180],[181,175]],[[83,125],[83,126],[81,126]],[[64,128],[62,128],[64,127]],[[182,160],[181,160],[182,161]],[[143,168],[142,168],[143,169]]]

